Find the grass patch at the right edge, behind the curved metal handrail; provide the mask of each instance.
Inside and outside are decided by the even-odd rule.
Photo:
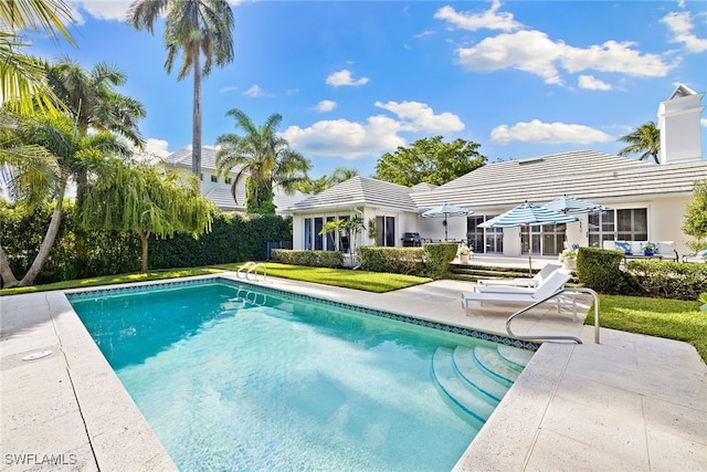
[[[697,349],[707,363],[707,312],[700,302],[600,295],[599,322],[602,327],[684,340]],[[594,310],[584,324],[594,324]]]

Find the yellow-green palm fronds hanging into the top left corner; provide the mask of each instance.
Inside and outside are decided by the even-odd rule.
[[[56,113],[59,98],[46,85],[44,65],[31,55],[22,54],[28,46],[18,32],[42,29],[51,38],[63,36],[75,44],[66,29],[73,21],[71,9],[62,0],[0,1],[0,103],[22,115],[40,111]]]

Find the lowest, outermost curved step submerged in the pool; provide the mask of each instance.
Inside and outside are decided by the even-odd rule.
[[[486,422],[496,408],[496,401],[474,394],[474,389],[463,380],[454,368],[454,352],[449,347],[437,347],[432,356],[432,378],[442,392],[462,411]]]

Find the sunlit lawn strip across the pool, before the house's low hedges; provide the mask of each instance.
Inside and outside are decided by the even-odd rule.
[[[241,264],[217,265],[218,269],[238,271]],[[266,264],[267,275],[292,279],[303,282],[314,282],[366,292],[386,293],[431,282],[432,279],[414,275],[388,274],[382,272],[351,271],[348,269],[306,268],[302,265]],[[262,271],[258,270],[260,273]]]

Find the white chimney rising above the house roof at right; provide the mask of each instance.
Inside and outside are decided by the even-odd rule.
[[[704,95],[679,84],[668,99],[661,102],[658,129],[662,165],[701,159],[699,117],[705,107],[699,103]]]

